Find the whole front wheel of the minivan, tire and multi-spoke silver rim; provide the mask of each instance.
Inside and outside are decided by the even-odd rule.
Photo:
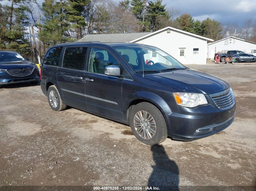
[[[167,138],[165,118],[151,103],[141,102],[133,106],[129,123],[135,137],[147,145],[158,145]]]

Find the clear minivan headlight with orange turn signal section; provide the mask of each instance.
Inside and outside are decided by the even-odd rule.
[[[204,94],[173,93],[178,105],[183,107],[197,107],[207,104]]]

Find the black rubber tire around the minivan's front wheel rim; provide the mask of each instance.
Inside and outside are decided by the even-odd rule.
[[[140,128],[144,128],[143,125],[142,126],[138,125],[137,127],[135,127],[135,124],[134,124],[134,123],[139,123],[138,120],[135,119],[135,115],[139,111],[146,111],[146,112],[148,112],[148,114],[150,114],[153,117],[153,119],[151,119],[151,120],[149,119],[149,121],[147,121],[147,123],[152,123],[152,122],[155,123],[155,128],[153,126],[148,127],[148,125],[147,125],[147,127],[145,127],[145,129],[147,129],[147,130],[145,130],[146,136],[148,136],[148,134],[146,134],[146,131],[148,133],[150,133],[151,136],[153,135],[153,133],[151,133],[148,130],[148,128],[152,128],[155,130],[155,134],[151,138],[149,138],[149,136],[148,136],[148,138],[141,137],[143,135],[140,135],[140,134],[143,134],[144,130],[142,130],[142,132],[140,134],[137,132],[137,131],[139,131]],[[145,116],[149,116],[149,115],[145,115]],[[135,137],[139,141],[141,141],[147,145],[158,145],[167,138],[167,127],[166,127],[166,123],[165,123],[165,118],[164,118],[163,114],[158,110],[158,108],[155,107],[151,103],[141,102],[141,103],[138,103],[137,105],[134,105],[131,109],[131,112],[129,113],[129,123],[130,123],[131,130],[132,130],[133,134],[135,135]],[[137,131],[135,128],[137,128]]]

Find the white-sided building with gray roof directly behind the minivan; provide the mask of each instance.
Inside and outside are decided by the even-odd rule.
[[[212,39],[166,27],[153,33],[89,34],[79,41],[129,42],[156,46],[182,64],[206,64],[207,43]],[[157,55],[151,55],[152,60]]]

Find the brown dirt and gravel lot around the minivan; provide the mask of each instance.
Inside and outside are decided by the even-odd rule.
[[[207,138],[154,147],[129,126],[71,107],[51,110],[39,85],[4,86],[0,186],[256,186],[256,63],[188,67],[231,85],[234,122]]]

